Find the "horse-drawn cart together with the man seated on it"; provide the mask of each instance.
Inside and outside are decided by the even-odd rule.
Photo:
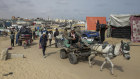
[[[64,34],[64,36],[66,36]],[[71,30],[68,36],[64,37],[64,48],[60,50],[60,58],[69,58],[71,64],[76,64],[80,57],[88,57],[91,49],[81,40],[81,37]]]

